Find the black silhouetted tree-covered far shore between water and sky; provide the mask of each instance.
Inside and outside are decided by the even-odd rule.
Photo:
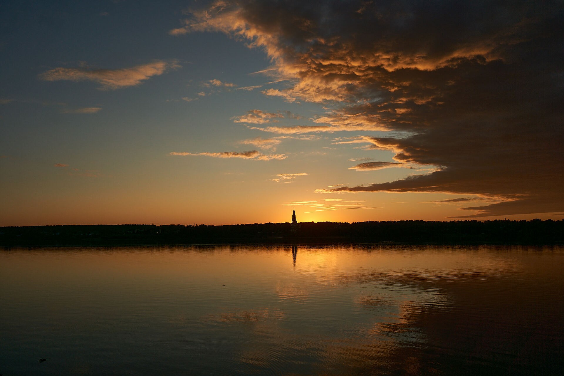
[[[564,220],[400,220],[233,225],[45,225],[0,227],[0,246],[277,243],[564,244]]]

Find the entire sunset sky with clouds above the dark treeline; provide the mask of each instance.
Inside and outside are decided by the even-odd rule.
[[[564,218],[562,1],[0,3],[0,225]]]

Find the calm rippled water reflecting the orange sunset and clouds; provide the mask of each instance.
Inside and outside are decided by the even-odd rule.
[[[3,376],[564,370],[562,247],[12,248],[0,286]]]

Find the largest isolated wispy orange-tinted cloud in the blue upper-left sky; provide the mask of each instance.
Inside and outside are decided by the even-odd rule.
[[[175,68],[180,68],[175,60],[157,60],[153,63],[122,69],[55,68],[39,74],[38,77],[44,81],[94,81],[99,83],[102,90],[116,90],[140,85],[153,76],[160,76]]]

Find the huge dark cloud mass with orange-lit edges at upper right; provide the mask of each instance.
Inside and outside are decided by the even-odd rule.
[[[394,131],[371,148],[434,166],[321,192],[496,198],[465,217],[564,210],[561,1],[217,2],[171,34],[205,30],[266,51],[290,86],[265,94],[331,109],[317,127],[263,130]]]

